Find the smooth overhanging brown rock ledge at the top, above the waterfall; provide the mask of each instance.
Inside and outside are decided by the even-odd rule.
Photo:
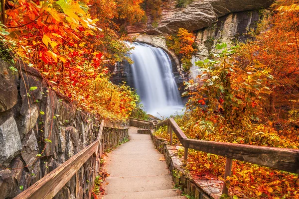
[[[219,17],[233,12],[256,10],[269,7],[274,0],[193,0],[185,8],[177,8],[176,0],[162,6],[157,27],[149,16],[146,24],[138,23],[127,27],[128,33],[164,34],[177,32],[182,27],[195,31],[210,26]]]

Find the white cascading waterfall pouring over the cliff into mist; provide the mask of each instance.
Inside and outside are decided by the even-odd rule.
[[[144,43],[128,44],[135,47],[130,55],[134,61],[131,69],[145,110],[156,117],[181,112],[183,104],[167,53]]]

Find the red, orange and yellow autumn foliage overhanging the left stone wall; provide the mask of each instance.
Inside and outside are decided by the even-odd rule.
[[[124,59],[128,50],[118,40],[117,30],[109,28],[109,18],[119,16],[117,6],[102,10],[107,14],[100,18],[102,27],[107,28],[101,29],[99,19],[91,15],[88,1],[8,3],[11,6],[2,10],[6,26],[2,25],[1,34],[4,51],[16,55],[10,61],[21,58],[29,67],[37,68],[54,90],[85,110],[108,119],[125,119],[130,115],[136,95],[128,87],[113,85],[107,68],[109,63]]]

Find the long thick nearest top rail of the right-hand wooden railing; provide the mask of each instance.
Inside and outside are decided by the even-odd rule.
[[[299,174],[299,149],[181,139],[183,146],[227,158]]]

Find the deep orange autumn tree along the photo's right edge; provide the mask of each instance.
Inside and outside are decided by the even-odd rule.
[[[299,6],[296,3],[297,0],[278,0],[272,6],[273,14],[266,13],[254,32],[256,40],[243,44],[239,51],[241,65],[257,60],[271,68],[274,81],[266,84],[273,93],[261,118],[266,122],[270,119],[285,135],[293,134],[289,125],[298,127],[295,120],[299,120]]]

